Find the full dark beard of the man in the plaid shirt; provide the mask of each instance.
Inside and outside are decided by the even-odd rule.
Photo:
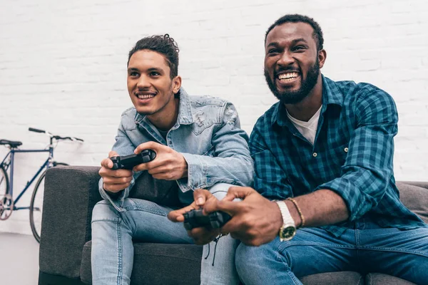
[[[267,73],[267,70],[265,68],[265,79],[267,86],[269,86],[270,90],[272,91],[273,95],[275,95],[278,100],[281,101],[283,104],[296,104],[301,102],[303,99],[309,95],[310,91],[315,87],[315,84],[317,84],[318,76],[320,75],[320,63],[317,61],[309,68],[309,71],[307,71],[306,78],[303,79],[302,76],[300,76],[300,88],[297,90],[283,90],[280,91],[277,89],[277,86],[275,86],[275,78],[277,78],[277,71],[274,71],[273,78],[274,81],[269,76],[269,73]]]

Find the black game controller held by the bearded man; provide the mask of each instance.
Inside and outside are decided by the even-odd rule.
[[[223,227],[223,225],[232,218],[229,214],[225,212],[212,212],[205,216],[202,213],[202,209],[193,209],[190,212],[184,213],[184,222],[183,225],[185,229],[190,230],[195,227],[206,227],[210,226],[213,229],[218,229]]]

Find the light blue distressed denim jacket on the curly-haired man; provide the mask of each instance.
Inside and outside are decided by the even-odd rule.
[[[177,180],[182,193],[206,189],[220,182],[252,185],[254,169],[248,135],[240,129],[233,104],[210,96],[189,96],[183,88],[179,94],[177,122],[168,131],[166,140],[145,115],[129,108],[122,113],[113,150],[118,155],[131,155],[141,143],[154,141],[180,152],[188,163],[188,177]],[[101,178],[101,197],[108,199],[118,211],[124,211],[123,200],[141,173],[133,173],[131,185],[118,199],[107,195]]]

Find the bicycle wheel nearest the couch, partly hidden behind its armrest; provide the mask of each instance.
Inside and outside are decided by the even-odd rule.
[[[54,167],[57,165],[68,165],[66,163],[54,162]],[[41,234],[41,217],[43,213],[43,197],[44,197],[44,178],[46,170],[40,175],[34,187],[33,195],[31,195],[30,203],[30,226],[31,232],[37,242],[40,243]]]

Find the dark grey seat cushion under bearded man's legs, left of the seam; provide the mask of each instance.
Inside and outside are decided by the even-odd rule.
[[[362,285],[364,278],[352,271],[327,272],[300,277],[304,285]]]

